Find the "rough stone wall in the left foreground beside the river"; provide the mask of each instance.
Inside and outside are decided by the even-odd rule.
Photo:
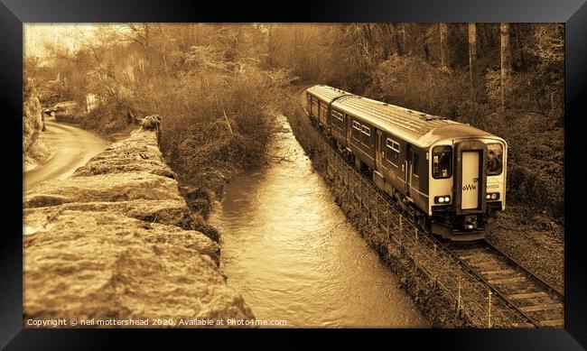
[[[158,118],[145,122],[69,179],[25,194],[25,327],[27,319],[150,319],[149,327],[254,319],[219,271],[219,245],[194,230],[158,147]]]

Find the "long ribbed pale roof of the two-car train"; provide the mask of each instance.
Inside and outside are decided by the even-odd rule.
[[[344,90],[329,86],[313,86],[307,89],[321,100],[349,115],[366,120],[381,130],[405,139],[409,143],[427,147],[451,138],[496,137],[471,125],[405,107],[387,104],[368,97],[359,97]],[[332,102],[333,101],[333,102]],[[501,138],[498,138],[501,140]]]

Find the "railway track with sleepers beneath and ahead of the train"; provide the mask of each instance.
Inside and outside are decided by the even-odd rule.
[[[320,129],[318,129],[318,133],[324,138]],[[332,152],[339,155],[344,162],[352,166],[331,143],[325,141],[324,144]],[[368,180],[368,184],[387,199],[388,205],[405,213],[405,218],[414,226],[418,226],[410,214],[400,208],[387,193],[378,189],[366,174],[355,171]],[[514,309],[528,323],[536,328],[564,328],[564,293],[540,279],[522,264],[517,263],[508,254],[484,240],[445,242],[441,238],[433,236],[429,231],[422,230],[422,232],[437,243],[444,252],[451,255],[462,269],[470,272],[498,299],[503,300],[508,307]]]

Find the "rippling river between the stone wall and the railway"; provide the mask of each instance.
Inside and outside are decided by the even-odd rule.
[[[280,117],[270,162],[230,181],[210,224],[256,319],[287,327],[425,328],[415,303],[334,203]]]

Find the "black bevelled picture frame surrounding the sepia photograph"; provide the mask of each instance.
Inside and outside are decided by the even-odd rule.
[[[271,339],[275,348],[291,347],[303,337],[319,337],[314,345],[382,342],[386,348],[433,346],[456,349],[583,349],[587,346],[587,251],[582,231],[582,205],[587,174],[582,168],[582,102],[587,96],[586,0],[404,0],[322,1],[228,4],[75,0],[0,0],[0,86],[4,185],[3,234],[0,236],[0,346],[6,349],[118,348],[147,342],[169,346],[178,340],[200,348],[209,340],[225,346],[255,338]],[[23,23],[56,22],[453,22],[565,23],[565,328],[564,329],[368,329],[368,330],[107,330],[23,328],[22,243],[22,83]],[[19,146],[21,145],[21,146]],[[194,338],[195,333],[195,338]],[[269,338],[266,338],[269,337]],[[401,339],[401,341],[400,341]],[[195,343],[195,344],[194,344]],[[403,343],[403,344],[400,344]],[[406,344],[407,343],[407,344]]]

